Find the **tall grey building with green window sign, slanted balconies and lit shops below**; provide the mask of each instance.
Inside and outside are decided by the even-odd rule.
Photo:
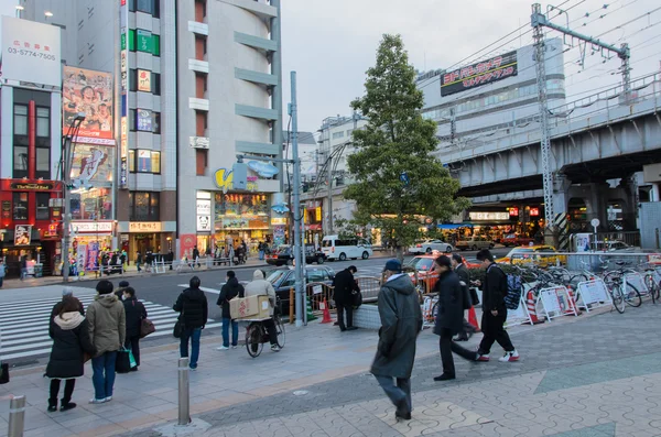
[[[270,208],[282,155],[279,0],[24,2],[57,25],[68,66],[112,74],[116,244],[191,255],[195,247],[284,238]],[[45,8],[48,17],[44,15]]]

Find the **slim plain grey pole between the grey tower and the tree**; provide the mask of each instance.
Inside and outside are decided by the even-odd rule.
[[[303,325],[302,315],[305,313],[303,308],[303,273],[305,272],[303,262],[305,244],[301,244],[305,236],[301,231],[303,225],[303,217],[301,217],[301,163],[299,162],[299,107],[296,102],[296,72],[291,73],[291,86],[292,86],[292,102],[290,103],[290,114],[292,117],[292,159],[294,161],[294,262],[295,262],[295,285],[294,289],[296,293],[296,327]]]

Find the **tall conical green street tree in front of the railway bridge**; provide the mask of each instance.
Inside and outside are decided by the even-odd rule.
[[[356,201],[354,221],[380,229],[402,261],[425,219],[448,220],[469,203],[456,196],[458,181],[432,154],[436,123],[422,118],[423,94],[400,35],[383,35],[365,95],[351,107],[368,124],[353,132],[356,151],[347,163],[355,182],[344,197]]]

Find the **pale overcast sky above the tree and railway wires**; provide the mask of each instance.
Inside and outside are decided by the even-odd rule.
[[[555,4],[563,1],[556,0]],[[400,33],[410,62],[415,68],[426,70],[448,67],[521,25],[525,25],[521,33],[530,30],[528,0],[282,0],[282,3],[284,101],[290,101],[290,72],[294,69],[302,131],[318,129],[326,117],[350,113],[349,102],[364,92],[365,72],[375,63],[383,33]],[[608,8],[599,10],[605,3]],[[545,10],[548,3],[542,4]],[[567,13],[573,30],[596,36],[660,6],[658,0],[568,0],[563,9],[571,8]],[[594,13],[585,18],[588,12]],[[600,19],[603,14],[607,15]],[[566,25],[567,20],[562,17],[553,21]],[[602,37],[618,46],[630,43],[633,78],[659,72],[661,24],[654,24],[660,22],[661,10]],[[530,43],[532,33],[516,39],[499,52]],[[481,57],[490,56],[488,51],[484,53]],[[576,47],[565,53],[564,61],[578,57]],[[477,55],[473,59],[479,58]],[[585,70],[578,73],[578,66],[565,65],[567,102],[578,92],[619,83],[620,77],[610,74],[619,67],[619,59],[606,64],[602,61],[598,55],[589,56],[588,51]],[[285,129],[286,121],[285,117]]]

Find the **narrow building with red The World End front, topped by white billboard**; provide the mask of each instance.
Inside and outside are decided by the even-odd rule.
[[[22,256],[30,274],[48,274],[61,253],[61,35],[51,25],[1,20],[0,258],[9,276],[20,274]]]

